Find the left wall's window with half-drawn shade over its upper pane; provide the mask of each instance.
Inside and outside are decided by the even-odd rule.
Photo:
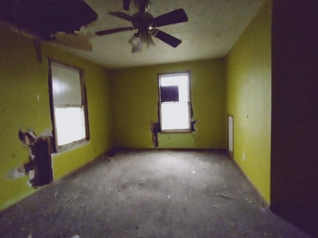
[[[55,150],[89,139],[83,70],[49,60],[50,102]]]

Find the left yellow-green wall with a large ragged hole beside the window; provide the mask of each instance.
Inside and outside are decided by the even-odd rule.
[[[108,150],[111,144],[110,85],[104,68],[42,43],[42,62],[37,61],[33,41],[0,26],[0,210],[36,190],[27,177],[15,180],[6,173],[28,162],[29,149],[18,130],[37,134],[52,130],[48,93],[47,57],[84,69],[87,88],[90,141],[53,155],[54,179],[84,165]],[[39,100],[37,97],[39,96]]]

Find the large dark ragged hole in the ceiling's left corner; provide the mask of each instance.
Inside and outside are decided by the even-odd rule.
[[[54,39],[57,32],[75,33],[97,16],[84,0],[0,1],[0,20],[43,40]]]

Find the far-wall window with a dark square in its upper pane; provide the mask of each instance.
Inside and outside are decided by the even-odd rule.
[[[191,131],[189,72],[159,74],[159,119],[162,132]]]

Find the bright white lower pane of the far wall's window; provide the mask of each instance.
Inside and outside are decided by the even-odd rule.
[[[189,129],[188,103],[162,103],[161,129]]]

